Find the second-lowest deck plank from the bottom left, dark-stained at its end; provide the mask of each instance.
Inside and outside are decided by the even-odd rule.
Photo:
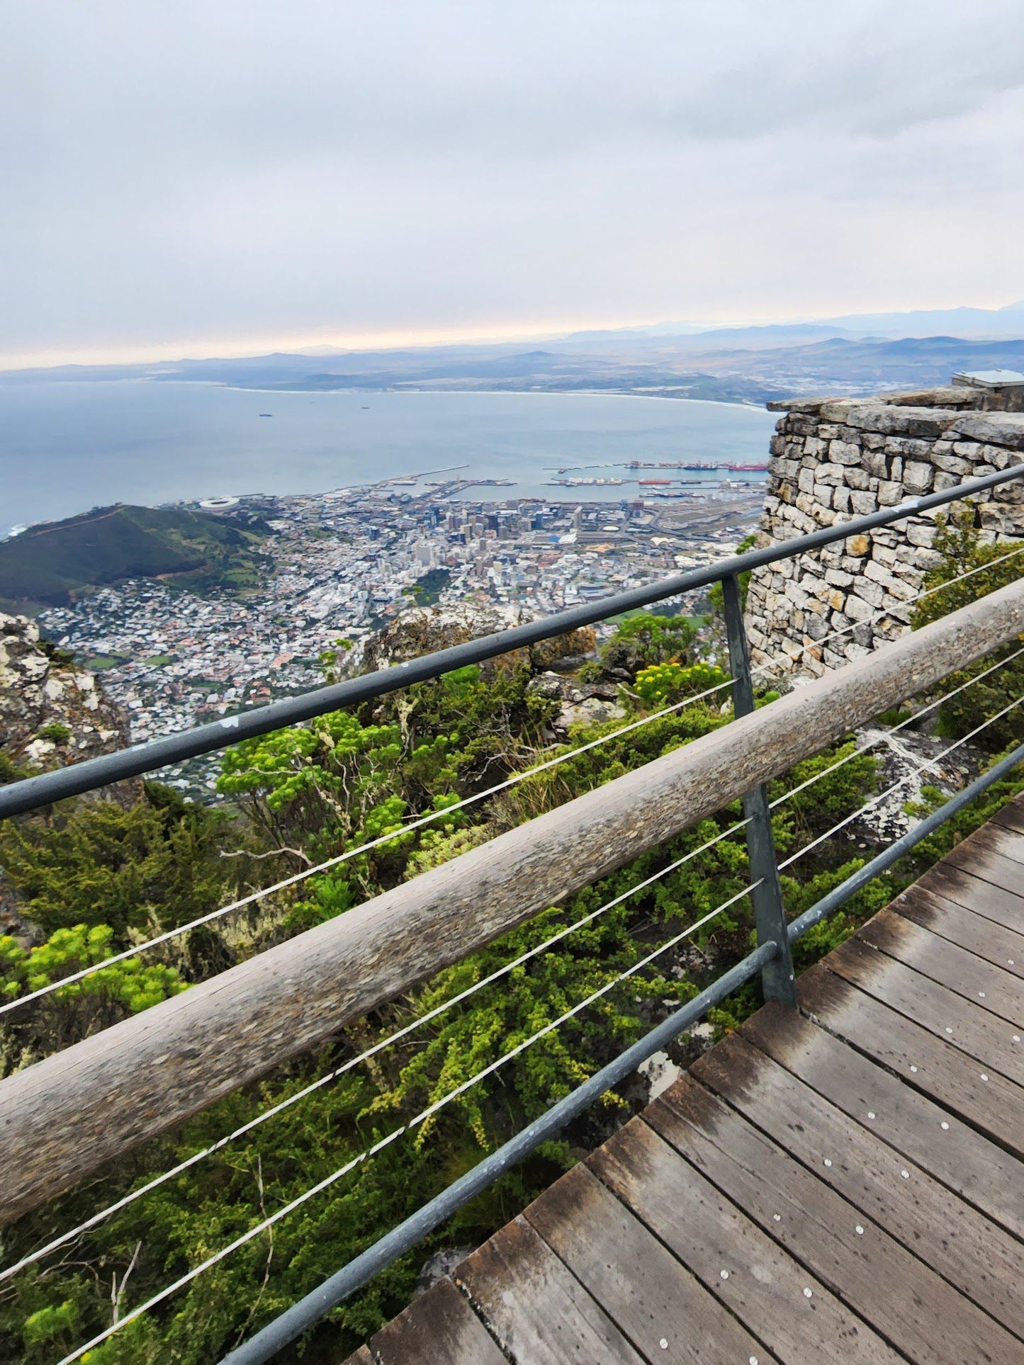
[[[455,1279],[512,1360],[638,1365],[643,1358],[524,1218],[468,1256]]]

